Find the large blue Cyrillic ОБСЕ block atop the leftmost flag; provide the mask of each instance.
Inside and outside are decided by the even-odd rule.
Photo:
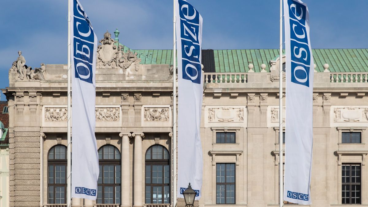
[[[93,80],[93,53],[95,34],[85,12],[74,0],[73,48],[75,77],[87,83]]]

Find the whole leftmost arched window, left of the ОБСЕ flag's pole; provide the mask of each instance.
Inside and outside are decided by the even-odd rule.
[[[49,204],[65,204],[67,196],[67,147],[56,145],[47,155],[47,197]]]

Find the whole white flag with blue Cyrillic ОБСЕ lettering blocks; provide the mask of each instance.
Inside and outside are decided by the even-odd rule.
[[[70,0],[72,80],[71,195],[96,200],[99,175],[95,137],[97,36],[78,0]],[[69,189],[68,189],[69,190]]]

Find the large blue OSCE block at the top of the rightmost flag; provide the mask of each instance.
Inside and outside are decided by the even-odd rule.
[[[288,0],[290,22],[291,82],[309,87],[311,53],[305,19],[307,7]]]

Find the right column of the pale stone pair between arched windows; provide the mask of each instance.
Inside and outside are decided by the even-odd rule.
[[[134,137],[134,196],[133,207],[142,207],[143,189],[143,158],[142,158],[142,138],[143,133],[133,133]]]

